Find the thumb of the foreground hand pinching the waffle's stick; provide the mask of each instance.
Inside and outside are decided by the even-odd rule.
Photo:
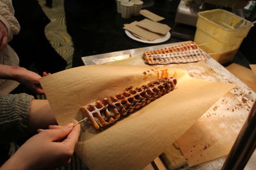
[[[51,141],[58,141],[60,139],[66,138],[68,134],[72,131],[71,127],[61,127],[60,129],[49,129],[47,130],[47,136]]]

